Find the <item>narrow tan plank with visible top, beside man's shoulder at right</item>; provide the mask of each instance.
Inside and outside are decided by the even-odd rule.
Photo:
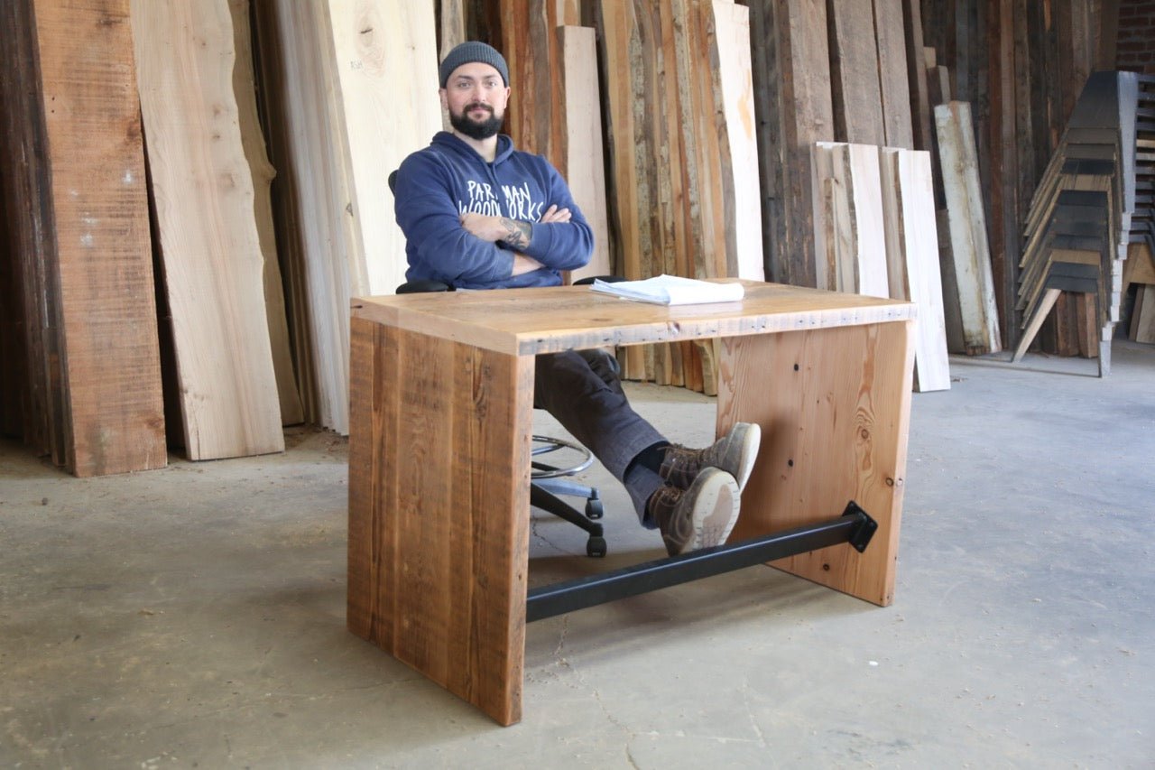
[[[597,87],[597,39],[589,27],[559,27],[564,67],[567,179],[574,202],[594,230],[594,254],[589,264],[571,273],[609,275],[610,225],[605,207],[605,165],[602,163],[602,99]]]

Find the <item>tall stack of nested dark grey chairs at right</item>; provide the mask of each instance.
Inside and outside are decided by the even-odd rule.
[[[1086,295],[1100,373],[1110,370],[1110,341],[1119,320],[1123,262],[1135,210],[1134,73],[1088,77],[1051,163],[1031,200],[1019,264],[1018,310],[1027,351],[1063,291]]]

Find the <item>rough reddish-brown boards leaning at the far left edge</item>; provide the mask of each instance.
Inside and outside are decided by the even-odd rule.
[[[5,431],[79,476],[163,467],[128,1],[9,0],[0,38]]]

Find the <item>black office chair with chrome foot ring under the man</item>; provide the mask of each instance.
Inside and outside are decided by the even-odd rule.
[[[396,171],[392,171],[389,173],[388,183],[390,191],[394,190],[396,177]],[[617,275],[602,275],[596,277],[611,283],[625,280]],[[584,286],[593,283],[594,280],[594,276],[584,277],[574,281],[574,284]],[[396,293],[425,294],[455,290],[456,289],[453,286],[444,281],[426,280],[407,281],[397,287]],[[606,382],[609,382],[609,378],[616,378],[620,373],[618,360],[606,350],[579,350],[578,354],[584,357],[590,363],[590,368],[601,375],[603,379],[606,379]],[[589,535],[586,540],[587,556],[605,556],[605,533],[602,525],[596,521],[596,519],[601,519],[604,514],[602,499],[598,495],[597,488],[580,484],[568,479],[568,476],[578,475],[591,466],[594,464],[594,454],[580,444],[575,444],[574,442],[569,442],[564,438],[556,438],[553,436],[535,435],[532,436],[532,442],[534,445],[530,450],[530,456],[532,458],[539,458],[554,452],[565,451],[569,456],[576,456],[576,459],[559,465],[551,465],[537,459],[530,460],[529,504],[584,530]],[[575,508],[561,499],[559,495],[584,498],[584,514],[580,513]]]

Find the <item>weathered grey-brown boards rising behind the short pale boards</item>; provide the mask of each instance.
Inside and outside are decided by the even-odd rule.
[[[916,0],[752,0],[763,232],[769,275],[819,286],[813,148],[819,142],[915,149],[925,88]],[[912,28],[912,24],[915,28]],[[921,53],[914,60],[921,60]],[[926,149],[925,146],[918,149]],[[885,284],[885,282],[884,282]]]

